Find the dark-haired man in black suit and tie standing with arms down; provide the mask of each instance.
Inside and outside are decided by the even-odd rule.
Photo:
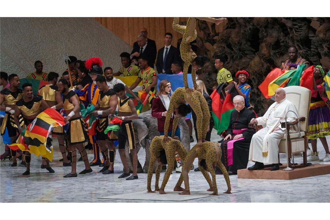
[[[164,39],[165,47],[158,50],[156,62],[158,73],[172,74],[171,65],[179,60],[177,48],[171,45],[172,37],[171,33],[166,33]]]

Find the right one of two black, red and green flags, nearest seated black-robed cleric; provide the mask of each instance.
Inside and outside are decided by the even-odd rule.
[[[235,88],[235,85],[232,85],[226,95],[226,98],[222,104],[221,108],[221,117],[220,117],[220,124],[218,127],[218,134],[227,130],[230,122],[230,114],[235,109],[233,104],[233,99],[235,96],[238,95],[238,92]]]

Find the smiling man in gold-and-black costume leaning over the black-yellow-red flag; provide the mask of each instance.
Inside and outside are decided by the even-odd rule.
[[[28,126],[32,121],[42,112],[42,109],[48,109],[49,106],[46,101],[40,95],[34,95],[32,84],[31,83],[24,83],[22,85],[23,89],[23,98],[16,102],[16,109],[14,114],[14,120],[17,125],[19,133],[23,131],[23,129]],[[19,121],[19,116],[23,115],[24,125],[21,126]],[[30,161],[31,161],[31,153],[28,151],[23,151],[25,156],[25,163],[26,163],[26,171],[23,175],[30,175]],[[53,169],[51,169],[49,165],[49,160],[46,158],[44,159],[44,163],[46,163],[46,170],[49,173],[55,173]]]

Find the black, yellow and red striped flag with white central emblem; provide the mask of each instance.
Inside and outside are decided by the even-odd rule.
[[[64,118],[54,109],[46,109],[23,130],[20,137],[15,144],[9,145],[11,149],[29,151],[34,153],[37,157],[42,155],[49,159],[53,159],[53,147],[49,137],[50,132],[56,126],[63,126]]]

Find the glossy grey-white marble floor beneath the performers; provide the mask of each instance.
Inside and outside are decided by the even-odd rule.
[[[193,136],[195,137],[195,136]],[[99,173],[100,167],[92,167],[93,172],[89,174],[79,175],[76,178],[63,178],[70,173],[70,167],[63,167],[58,161],[61,156],[57,147],[57,139],[53,139],[54,159],[51,167],[55,173],[48,173],[45,169],[40,169],[41,157],[32,156],[31,175],[22,176],[25,167],[10,167],[12,162],[6,160],[1,162],[0,166],[0,202],[2,203],[33,203],[33,202],[92,202],[92,203],[122,203],[122,202],[148,202],[132,200],[104,200],[101,197],[109,197],[116,194],[132,193],[137,191],[147,191],[147,173],[138,173],[139,179],[125,180],[118,179],[122,173],[122,165],[118,152],[116,153],[115,173],[104,175]],[[212,140],[220,140],[213,131]],[[328,143],[330,137],[327,137]],[[193,146],[195,142],[191,143]],[[312,163],[330,164],[330,162],[322,162],[324,158],[324,148],[320,141],[317,145],[320,161]],[[0,153],[4,152],[4,146],[1,144]],[[145,151],[140,150],[140,163],[144,164]],[[281,162],[285,162],[285,154],[281,154]],[[93,154],[88,154],[89,160],[93,159]],[[302,163],[302,157],[296,156],[295,162]],[[253,165],[249,162],[248,166]],[[197,159],[194,161],[197,167]],[[84,169],[83,162],[77,163],[78,173]],[[164,173],[161,173],[160,183]],[[179,178],[180,173],[170,176],[166,185],[165,192],[171,191]],[[154,176],[152,179],[152,187],[154,186]],[[216,175],[217,186],[219,192],[227,190],[226,182],[223,175]],[[308,178],[293,180],[268,180],[268,179],[238,179],[237,175],[231,175],[230,181],[232,191],[240,191],[230,195],[213,196],[195,200],[185,201],[203,202],[203,203],[279,203],[279,202],[295,202],[295,203],[325,203],[330,202],[330,174],[313,176]],[[190,189],[201,190],[208,189],[208,184],[200,172],[191,171],[189,173]],[[158,202],[158,201],[150,201]],[[160,201],[159,201],[160,202]]]

